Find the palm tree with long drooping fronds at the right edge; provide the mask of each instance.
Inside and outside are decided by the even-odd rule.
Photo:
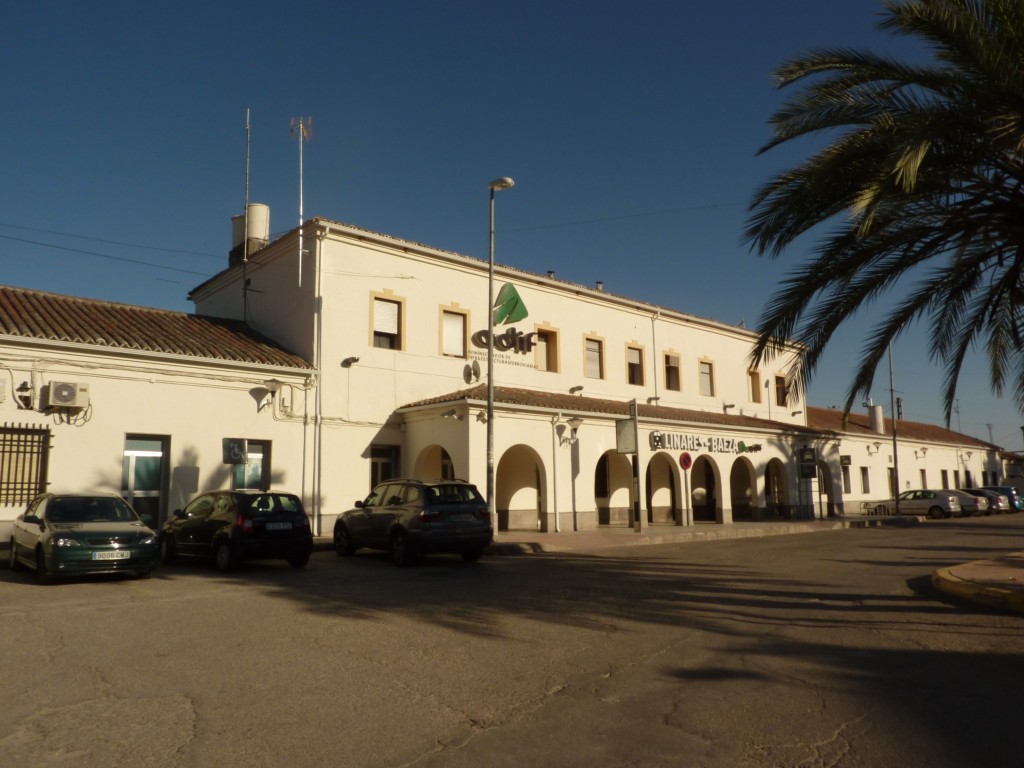
[[[800,89],[773,115],[774,136],[759,154],[812,135],[824,134],[825,145],[756,193],[744,240],[772,258],[811,230],[818,240],[766,306],[752,359],[793,339],[809,378],[844,321],[891,297],[847,411],[918,321],[945,367],[947,425],[975,346],[993,392],[1012,386],[1024,407],[1024,2],[884,6],[880,29],[925,42],[924,65],[822,49],[776,72],[780,87]]]

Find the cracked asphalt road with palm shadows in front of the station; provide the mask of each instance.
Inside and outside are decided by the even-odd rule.
[[[0,765],[1018,766],[1024,515],[485,557],[0,569]]]

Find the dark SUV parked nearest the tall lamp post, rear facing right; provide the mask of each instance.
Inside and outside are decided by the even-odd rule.
[[[475,562],[493,538],[487,503],[464,480],[388,480],[334,523],[339,555],[380,549],[399,566],[429,552],[459,553]]]

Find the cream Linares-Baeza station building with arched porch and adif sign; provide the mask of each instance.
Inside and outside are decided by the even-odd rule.
[[[272,486],[327,535],[383,479],[484,488],[488,262],[324,218],[267,243],[255,211],[193,314],[0,287],[0,541],[44,488],[159,525]],[[553,273],[495,265],[494,286],[500,531],[836,516],[1006,478],[982,440],[809,407],[796,345],[752,368],[744,328]]]

